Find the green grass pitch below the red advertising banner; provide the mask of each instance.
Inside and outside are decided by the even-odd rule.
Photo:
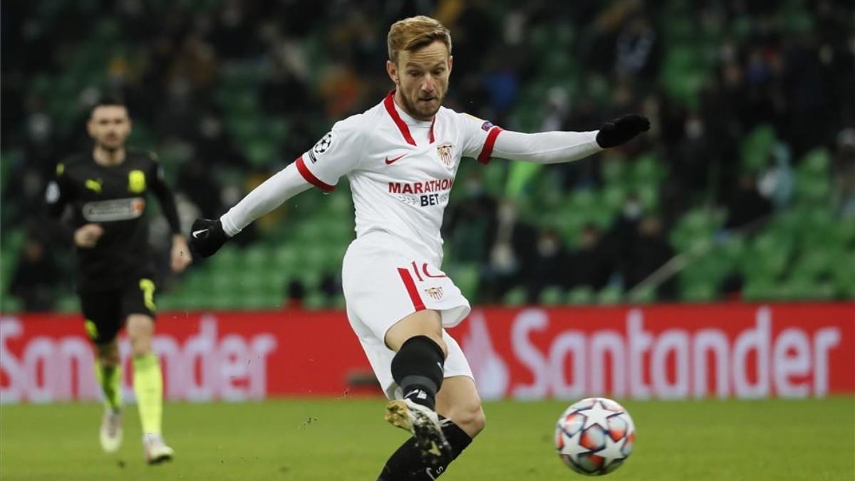
[[[552,448],[569,403],[486,404],[487,429],[444,480],[582,479]],[[855,401],[627,401],[638,437],[610,479],[852,479]],[[134,407],[119,453],[103,454],[94,404],[0,407],[0,479],[376,479],[403,431],[383,401],[169,404],[176,460],[146,466]]]

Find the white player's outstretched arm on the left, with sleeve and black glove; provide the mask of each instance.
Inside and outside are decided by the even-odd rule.
[[[312,186],[332,192],[339,177],[356,169],[361,161],[363,136],[358,117],[337,122],[314,147],[253,189],[219,219],[196,219],[190,232],[192,250],[203,258],[213,255],[258,217]]]

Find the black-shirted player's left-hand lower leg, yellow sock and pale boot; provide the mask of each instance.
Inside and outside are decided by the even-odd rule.
[[[122,438],[119,343],[114,339],[107,344],[96,345],[95,352],[95,377],[104,395],[104,414],[98,437],[104,452],[115,453]]]

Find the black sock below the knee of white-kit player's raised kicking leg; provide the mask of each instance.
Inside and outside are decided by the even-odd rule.
[[[410,337],[392,358],[392,378],[404,399],[433,409],[442,386],[445,354],[428,336]]]

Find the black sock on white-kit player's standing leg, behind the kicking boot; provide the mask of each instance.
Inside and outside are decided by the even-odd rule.
[[[389,460],[386,461],[386,466],[383,466],[383,472],[380,472],[380,478],[377,481],[430,481],[436,479],[440,474],[445,472],[451,461],[457,459],[457,456],[463,452],[472,438],[466,434],[466,431],[460,429],[459,426],[451,422],[451,419],[439,417],[442,424],[442,432],[445,434],[445,439],[451,444],[451,460],[444,464],[435,465],[430,460],[425,460],[422,456],[422,451],[416,446],[416,440],[412,437],[395,451]]]

